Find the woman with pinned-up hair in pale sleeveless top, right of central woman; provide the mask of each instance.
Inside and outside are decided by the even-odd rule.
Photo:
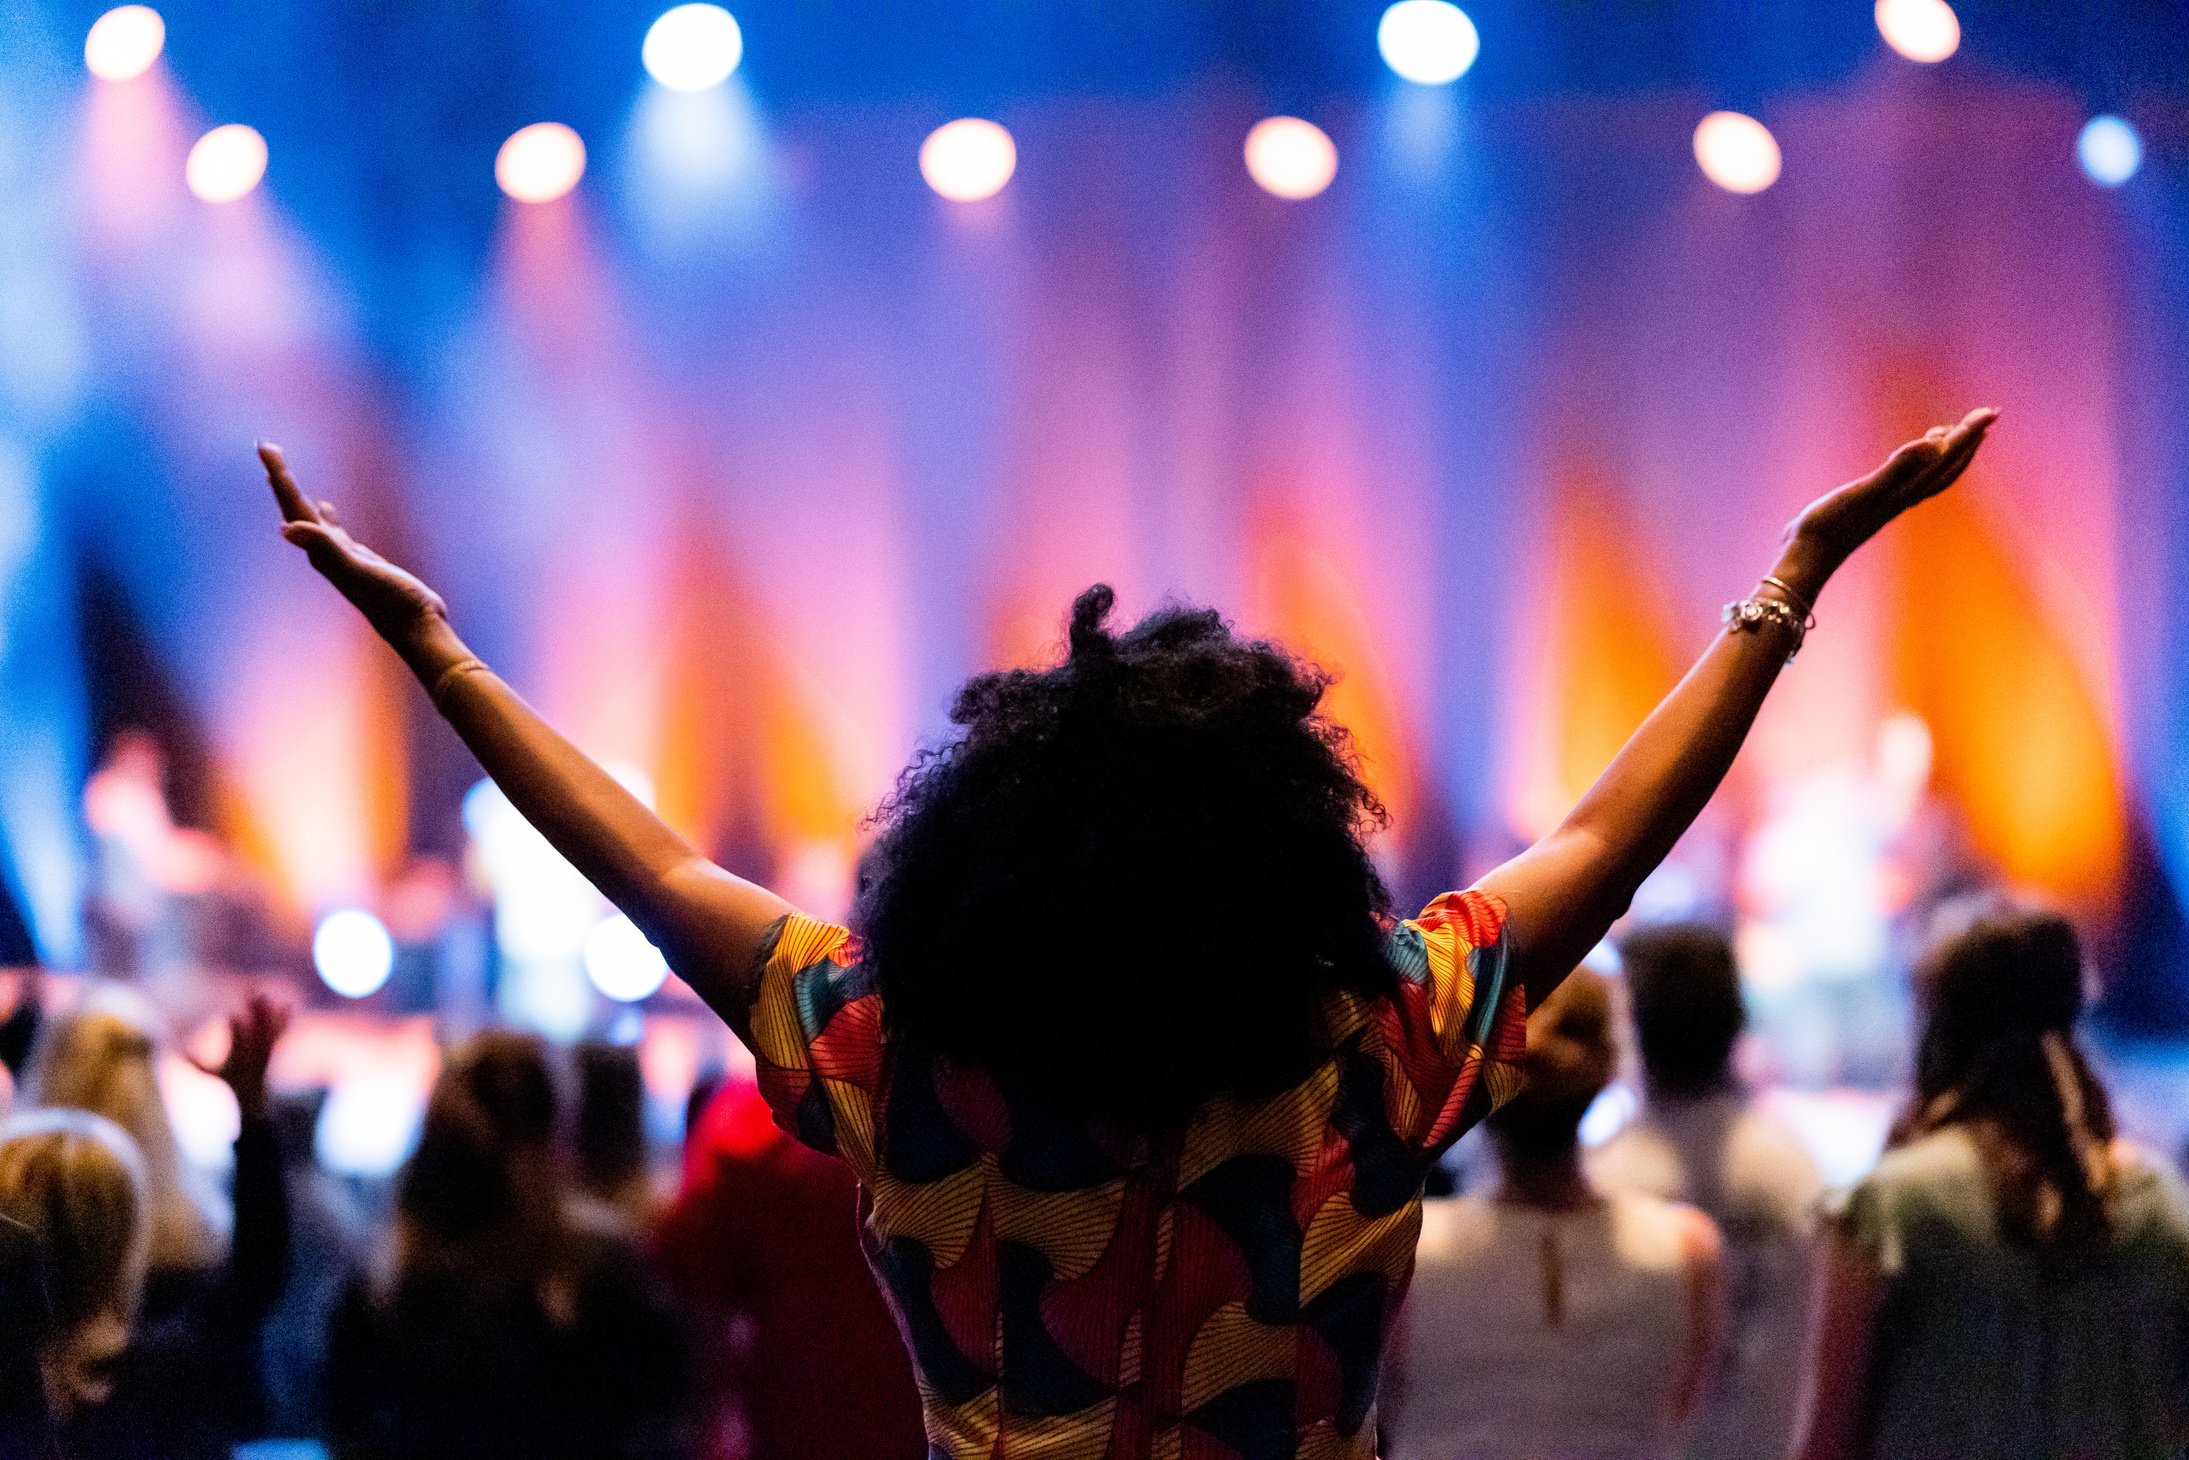
[[[1497,1191],[1423,1215],[1394,1460],[1683,1453],[1718,1353],[1718,1230],[1583,1171],[1580,1116],[1615,1059],[1611,987],[1576,972],[1528,1020],[1526,1084],[1489,1119]]]

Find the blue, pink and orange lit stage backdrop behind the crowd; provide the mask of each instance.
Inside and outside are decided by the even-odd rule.
[[[994,77],[952,53],[930,90],[873,61],[832,94],[816,9],[775,4],[727,88],[674,96],[639,9],[422,9],[260,18],[254,70],[206,33],[225,7],[177,4],[169,59],[107,85],[88,13],[7,7],[0,832],[46,957],[79,957],[77,799],[125,722],[298,919],[460,838],[462,749],[274,534],[254,438],[672,821],[836,911],[952,687],[1053,654],[1094,580],[1337,672],[1394,882],[1471,876],[1572,803],[1804,501],[1999,405],[1968,484],[1834,582],[1714,816],[1913,711],[1983,858],[2128,939],[2136,1020],[2189,1011],[2189,127],[2161,92],[2104,190],[2086,79],[1985,57],[1974,13],[1935,70],[1839,28],[1830,63],[1734,83],[1753,42],[1690,42],[1707,63],[1591,85],[1541,37],[1499,83],[1497,46],[1642,20],[1504,7],[1480,79],[1421,90],[1373,53],[1272,61],[1237,18],[1243,53],[1167,31],[1127,81],[1044,70],[998,4],[963,37]],[[1298,44],[1366,46],[1375,7],[1331,9],[1359,33]],[[1727,103],[1784,149],[1762,195],[1694,169]],[[1272,109],[1335,138],[1322,197],[1246,177]],[[1020,155],[974,206],[913,166],[963,112]],[[493,147],[549,114],[584,182],[501,199]],[[267,182],[199,204],[182,155],[239,118]]]

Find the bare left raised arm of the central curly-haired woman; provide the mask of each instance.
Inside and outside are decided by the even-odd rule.
[[[790,904],[703,858],[541,720],[455,637],[440,593],[352,538],[333,503],[304,497],[280,447],[258,447],[258,460],[280,503],[282,536],[403,657],[510,806],[746,1040],[753,959]]]

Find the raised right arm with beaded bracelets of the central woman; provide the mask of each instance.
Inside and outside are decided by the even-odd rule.
[[[1953,486],[1996,416],[1970,412],[1957,427],[1935,427],[1861,482],[1812,501],[1756,589],[1791,613],[1721,633],[1565,821],[1482,880],[1510,911],[1528,1007],[1611,930],[1642,878],[1703,812],[1839,565],[1904,510]]]

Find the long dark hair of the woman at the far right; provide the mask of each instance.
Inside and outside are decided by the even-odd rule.
[[[2108,1230],[2112,1110],[2075,1044],[2082,941],[2058,913],[1990,904],[1915,970],[1924,1024],[1900,1138],[1961,1125],[2003,1228],[2036,1245]]]

